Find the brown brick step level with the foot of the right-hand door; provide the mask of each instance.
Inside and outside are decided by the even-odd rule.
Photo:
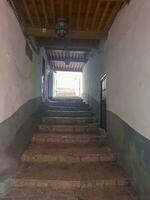
[[[39,125],[40,132],[63,132],[63,133],[90,133],[97,132],[97,123],[91,123],[86,125]]]

